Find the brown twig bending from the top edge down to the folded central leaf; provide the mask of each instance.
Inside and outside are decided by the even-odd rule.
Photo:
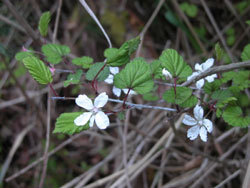
[[[152,22],[154,21],[155,17],[157,16],[157,14],[159,13],[163,3],[165,0],[160,0],[156,9],[154,10],[153,14],[151,15],[151,17],[149,18],[148,22],[146,23],[145,27],[143,28],[142,32],[140,33],[140,38],[141,38],[141,42],[139,44],[139,47],[136,51],[136,57],[140,56],[140,52],[141,52],[141,48],[143,45],[143,40],[144,40],[144,35],[147,32],[148,28],[150,27],[150,25],[152,24]]]

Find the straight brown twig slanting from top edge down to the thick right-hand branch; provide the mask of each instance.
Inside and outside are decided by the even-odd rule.
[[[220,38],[220,40],[222,42],[222,45],[224,46],[224,48],[225,48],[226,52],[228,53],[230,59],[232,60],[232,62],[235,62],[234,57],[233,57],[231,51],[229,50],[229,48],[228,48],[228,46],[226,44],[226,41],[225,41],[223,35],[221,34],[220,29],[219,29],[213,15],[212,15],[211,11],[209,10],[206,2],[204,0],[201,0],[201,4],[202,4],[203,8],[205,9],[206,14],[207,14],[210,22],[212,23],[217,35],[219,36],[219,38]]]

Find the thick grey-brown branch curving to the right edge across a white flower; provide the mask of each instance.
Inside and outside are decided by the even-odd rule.
[[[209,76],[209,75],[212,75],[215,73],[222,73],[225,71],[230,71],[230,70],[240,69],[240,68],[247,68],[247,67],[250,67],[250,61],[231,63],[229,65],[216,66],[216,67],[210,68],[210,69],[200,73],[196,77],[193,77],[192,79],[184,82],[182,84],[182,86],[189,86],[190,84],[192,84],[192,82],[195,82],[197,80],[200,80],[202,78],[205,78],[206,76]]]

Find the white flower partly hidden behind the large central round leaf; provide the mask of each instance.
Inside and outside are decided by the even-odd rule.
[[[108,78],[106,78],[106,80],[104,80],[104,82],[106,82],[108,84],[113,84],[114,75],[119,73],[119,68],[118,67],[109,67],[109,71],[110,71],[111,74],[109,74]],[[113,91],[115,96],[120,97],[121,96],[121,91],[123,91],[125,94],[127,94],[128,89],[122,89],[121,90],[121,89],[113,86],[112,91]],[[136,92],[133,91],[133,90],[130,90],[129,95],[136,95]]]

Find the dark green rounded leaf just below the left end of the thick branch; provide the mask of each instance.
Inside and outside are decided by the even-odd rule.
[[[192,95],[192,89],[188,87],[176,87],[176,94],[174,88],[164,92],[162,98],[172,104],[181,104],[185,102]]]

